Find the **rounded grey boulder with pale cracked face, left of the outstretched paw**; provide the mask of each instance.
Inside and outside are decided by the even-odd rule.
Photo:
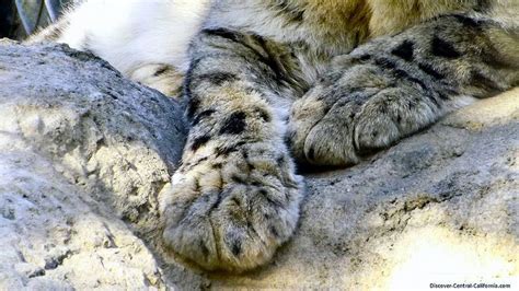
[[[135,233],[157,232],[178,104],[67,46],[2,42],[0,84],[0,289],[173,286]]]

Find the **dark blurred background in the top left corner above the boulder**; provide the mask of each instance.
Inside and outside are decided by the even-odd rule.
[[[0,0],[0,38],[25,38],[39,27],[56,21],[64,9],[73,1]]]

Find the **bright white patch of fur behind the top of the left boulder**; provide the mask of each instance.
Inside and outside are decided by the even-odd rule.
[[[58,43],[91,50],[127,77],[143,67],[187,70],[187,48],[210,0],[86,0],[69,12]]]

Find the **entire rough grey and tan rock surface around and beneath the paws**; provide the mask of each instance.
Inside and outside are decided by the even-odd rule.
[[[519,279],[519,90],[351,168],[307,175],[293,237],[205,273],[157,235],[178,105],[66,46],[0,44],[0,289],[428,289]]]

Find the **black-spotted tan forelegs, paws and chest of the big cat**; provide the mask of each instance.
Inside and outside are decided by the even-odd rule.
[[[165,244],[207,269],[267,263],[299,218],[292,156],[351,165],[517,85],[518,22],[512,0],[215,1],[180,70],[192,128]]]

